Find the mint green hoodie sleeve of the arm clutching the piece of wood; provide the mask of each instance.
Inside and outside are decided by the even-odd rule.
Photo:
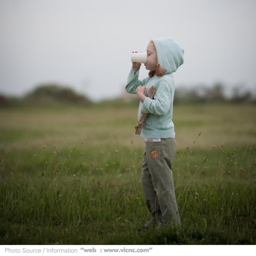
[[[173,86],[166,80],[162,80],[158,86],[154,99],[147,97],[143,103],[143,109],[146,114],[164,116],[170,109],[173,99]]]

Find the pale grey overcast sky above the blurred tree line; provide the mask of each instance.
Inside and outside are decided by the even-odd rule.
[[[93,100],[120,96],[131,52],[165,36],[185,50],[177,88],[255,91],[255,14],[255,0],[0,0],[0,93],[57,83]]]

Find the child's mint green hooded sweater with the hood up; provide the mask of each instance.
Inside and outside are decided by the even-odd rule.
[[[128,93],[136,94],[136,88],[141,85],[146,86],[145,95],[151,86],[156,87],[154,99],[147,97],[144,103],[140,102],[138,119],[141,110],[150,114],[143,124],[140,136],[144,138],[169,138],[175,137],[174,124],[172,122],[172,105],[175,91],[172,73],[183,64],[183,48],[171,37],[157,38],[154,42],[157,59],[160,67],[166,70],[164,76],[147,77],[139,80],[139,70],[128,75],[125,90]]]

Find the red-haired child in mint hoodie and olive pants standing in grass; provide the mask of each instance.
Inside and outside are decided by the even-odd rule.
[[[172,122],[174,79],[172,73],[183,64],[183,48],[171,37],[153,39],[147,47],[145,67],[148,77],[139,80],[141,63],[133,62],[125,90],[136,93],[140,100],[138,118],[144,109],[150,114],[140,136],[145,140],[141,182],[151,220],[143,228],[161,229],[167,223],[180,224],[172,160],[175,156],[175,131]],[[154,99],[146,97],[151,86],[156,87]]]

